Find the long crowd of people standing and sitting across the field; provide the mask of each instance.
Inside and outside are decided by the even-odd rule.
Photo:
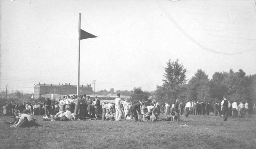
[[[117,96],[114,103],[101,103],[97,96],[91,100],[90,96],[86,95],[61,96],[59,102],[54,103],[49,98],[36,104],[25,102],[12,104],[11,102],[3,106],[3,115],[14,115],[15,120],[6,123],[13,124],[13,127],[21,127],[37,125],[33,121],[32,115],[43,115],[43,120],[45,121],[81,119],[102,121],[132,119],[135,121],[181,121],[180,115],[184,112],[185,117],[188,117],[189,115],[209,115],[210,111],[212,111],[214,115],[219,114],[226,121],[228,116],[243,117],[245,114],[250,116],[253,109],[255,109],[255,104],[237,101],[231,104],[226,98],[223,98],[222,102],[214,104],[192,100],[183,104],[182,101],[176,99],[172,105],[166,102],[165,105],[160,106],[159,102],[152,102],[151,105],[146,106],[144,101],[132,104],[127,99],[122,100],[120,93]],[[165,118],[159,119],[161,112],[165,115]]]

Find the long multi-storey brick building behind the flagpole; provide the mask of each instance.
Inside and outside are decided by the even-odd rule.
[[[67,95],[67,94],[75,94],[76,95],[76,85],[70,85],[70,83],[65,83],[65,84],[59,84],[59,85],[54,85],[54,84],[36,84],[34,86],[34,99],[41,98],[41,95],[49,94],[49,93],[54,93],[54,94],[59,94],[59,95]],[[92,94],[92,87],[91,85],[80,85],[79,88],[79,95],[83,94]]]

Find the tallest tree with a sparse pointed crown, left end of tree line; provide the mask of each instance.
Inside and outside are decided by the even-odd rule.
[[[186,72],[184,66],[176,61],[167,61],[164,67],[164,77],[162,86],[156,86],[156,95],[161,102],[174,102],[177,98],[184,98]]]

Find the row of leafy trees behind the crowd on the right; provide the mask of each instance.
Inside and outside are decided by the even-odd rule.
[[[161,102],[174,102],[176,99],[189,101],[190,99],[204,102],[222,101],[226,96],[229,101],[255,102],[256,74],[246,76],[239,69],[234,72],[215,72],[211,79],[198,69],[190,80],[186,79],[187,69],[179,60],[167,61],[164,67],[162,85],[156,86],[156,99]],[[186,83],[188,82],[188,83]]]

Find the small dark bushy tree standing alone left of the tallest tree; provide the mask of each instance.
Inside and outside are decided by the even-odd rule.
[[[148,99],[149,92],[144,92],[141,87],[133,89],[133,93],[131,95],[131,100],[133,103],[137,103],[138,101],[149,101]]]

